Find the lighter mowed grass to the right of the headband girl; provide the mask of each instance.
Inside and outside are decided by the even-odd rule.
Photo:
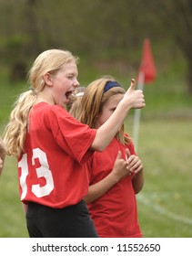
[[[192,237],[192,122],[142,121],[138,155],[145,187],[136,196],[144,237]]]

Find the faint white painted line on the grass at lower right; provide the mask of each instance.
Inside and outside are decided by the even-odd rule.
[[[146,205],[147,207],[151,208],[152,210],[156,211],[158,214],[164,215],[170,219],[174,219],[180,222],[183,222],[187,225],[191,225],[192,226],[192,219],[188,219],[184,216],[178,216],[177,214],[168,211],[166,208],[163,208],[159,205],[157,205],[157,203],[155,203],[154,201],[150,200],[148,197],[146,197],[143,194],[139,194],[136,196],[136,199]]]

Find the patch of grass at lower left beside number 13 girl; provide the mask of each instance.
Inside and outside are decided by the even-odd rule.
[[[0,178],[0,237],[25,238],[25,216],[18,194],[17,168],[13,157],[6,157]]]

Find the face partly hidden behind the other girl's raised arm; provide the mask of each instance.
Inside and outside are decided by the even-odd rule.
[[[99,128],[102,124],[106,123],[106,120],[112,115],[113,112],[115,112],[118,103],[123,99],[123,97],[123,94],[118,93],[106,101],[102,112],[97,117],[96,128]]]

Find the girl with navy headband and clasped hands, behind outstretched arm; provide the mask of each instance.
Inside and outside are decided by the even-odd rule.
[[[79,121],[99,129],[116,112],[126,91],[114,78],[93,81],[81,100]],[[136,194],[144,185],[143,164],[132,139],[119,125],[116,137],[87,162],[90,185],[85,197],[99,237],[141,237]]]

